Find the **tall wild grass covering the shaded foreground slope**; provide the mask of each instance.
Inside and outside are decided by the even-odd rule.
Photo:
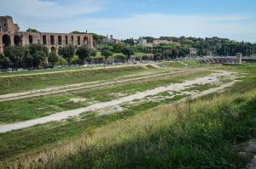
[[[17,162],[42,168],[241,168],[247,159],[233,144],[256,137],[255,95],[253,89],[191,104],[154,109],[151,103],[138,105],[127,111],[130,118],[109,115],[111,123],[65,144],[66,150],[45,150],[40,163],[33,155]],[[70,149],[73,146],[79,149]]]

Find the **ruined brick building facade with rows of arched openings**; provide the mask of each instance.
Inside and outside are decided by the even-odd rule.
[[[9,45],[33,43],[44,44],[49,52],[55,51],[55,53],[69,44],[74,46],[86,45],[93,48],[91,34],[20,31],[19,25],[13,22],[11,16],[0,16],[0,54],[3,53],[3,48]]]

